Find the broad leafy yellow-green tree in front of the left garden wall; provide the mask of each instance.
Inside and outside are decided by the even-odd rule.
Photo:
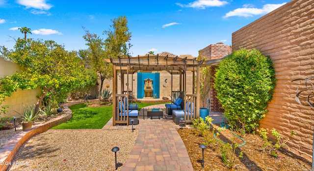
[[[26,47],[23,44],[26,43]],[[85,74],[84,65],[77,52],[67,51],[54,41],[18,39],[13,50],[7,51],[7,59],[24,67],[24,70],[2,79],[5,92],[39,87],[35,110],[38,111],[43,99],[62,102],[77,87],[91,84],[90,75]],[[94,82],[95,84],[95,82]]]

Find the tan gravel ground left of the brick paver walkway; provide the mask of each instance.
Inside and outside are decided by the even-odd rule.
[[[8,171],[114,171],[123,166],[138,130],[48,130],[29,139]],[[118,171],[121,167],[118,168]]]

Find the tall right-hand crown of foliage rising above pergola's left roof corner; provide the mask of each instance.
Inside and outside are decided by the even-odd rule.
[[[103,33],[108,37],[105,40],[105,47],[109,57],[117,58],[129,57],[129,49],[132,47],[131,32],[129,32],[128,20],[126,16],[119,16],[118,18],[111,20],[112,30],[105,30]]]

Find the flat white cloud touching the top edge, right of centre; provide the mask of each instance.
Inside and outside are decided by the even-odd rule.
[[[225,4],[228,4],[228,2],[224,0],[196,0],[188,4],[181,4],[181,3],[176,3],[176,4],[181,7],[186,7],[186,8],[190,7],[190,8],[205,9],[211,6],[223,6]]]

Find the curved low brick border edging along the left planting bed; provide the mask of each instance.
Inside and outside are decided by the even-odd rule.
[[[12,162],[14,156],[19,151],[20,147],[32,136],[45,132],[53,126],[56,126],[60,123],[66,122],[72,118],[72,111],[69,109],[69,106],[86,103],[92,100],[83,100],[66,103],[63,106],[63,115],[52,119],[48,122],[41,123],[32,127],[29,131],[23,131],[16,134],[12,137],[1,149],[0,149],[0,171],[5,171],[9,167],[9,163]]]

